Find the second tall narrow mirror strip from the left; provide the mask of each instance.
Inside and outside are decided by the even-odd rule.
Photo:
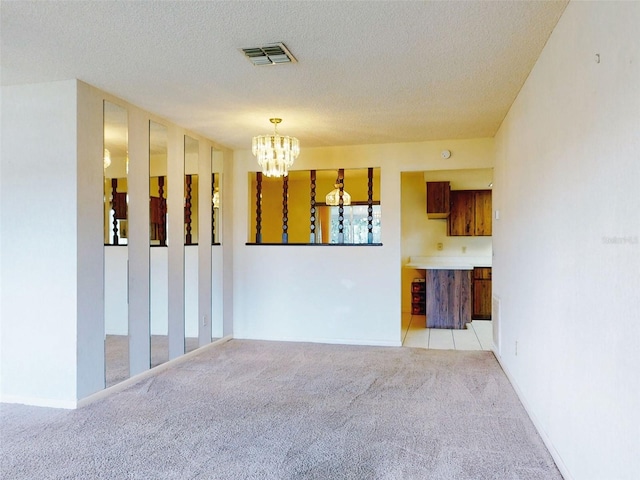
[[[149,122],[149,285],[151,367],[169,360],[167,127]]]

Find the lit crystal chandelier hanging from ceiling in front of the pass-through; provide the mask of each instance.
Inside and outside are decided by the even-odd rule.
[[[258,165],[262,167],[262,173],[266,177],[286,177],[289,168],[300,154],[300,143],[295,137],[278,134],[281,118],[270,118],[269,121],[273,123],[273,134],[253,137],[251,151],[258,159]]]

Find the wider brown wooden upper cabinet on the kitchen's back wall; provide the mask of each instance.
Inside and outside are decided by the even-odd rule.
[[[491,190],[452,190],[450,236],[491,235]]]

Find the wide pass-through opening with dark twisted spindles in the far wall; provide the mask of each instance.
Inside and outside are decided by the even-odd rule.
[[[249,175],[249,242],[381,243],[380,168]]]

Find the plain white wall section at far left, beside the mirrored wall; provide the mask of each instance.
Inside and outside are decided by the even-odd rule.
[[[3,401],[76,400],[76,82],[2,88]]]

